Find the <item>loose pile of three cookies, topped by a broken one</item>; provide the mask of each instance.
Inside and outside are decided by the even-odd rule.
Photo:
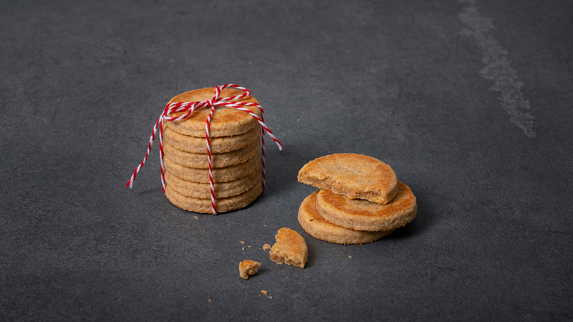
[[[418,210],[410,188],[388,164],[371,156],[323,156],[305,164],[298,179],[321,189],[301,203],[299,223],[324,241],[372,242],[409,223]]]

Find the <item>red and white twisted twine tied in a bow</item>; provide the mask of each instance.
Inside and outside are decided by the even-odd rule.
[[[221,95],[221,90],[223,88],[237,88],[240,89],[241,91],[244,91],[245,93],[241,94],[241,95],[237,95],[237,96],[233,96],[233,97],[219,97],[219,95]],[[238,99],[242,99],[243,97],[249,96],[250,91],[244,87],[240,87],[239,85],[235,85],[235,84],[225,84],[225,85],[219,85],[217,87],[215,87],[215,96],[213,96],[212,100],[204,100],[204,101],[200,101],[200,102],[179,102],[179,103],[171,103],[171,104],[167,104],[165,106],[165,108],[163,109],[163,113],[161,116],[159,116],[159,119],[155,122],[155,126],[153,127],[153,132],[151,133],[151,137],[149,138],[149,144],[147,146],[147,153],[145,155],[145,158],[143,158],[142,163],[139,164],[139,166],[135,169],[134,174],[131,175],[131,178],[129,179],[129,181],[125,184],[126,187],[131,188],[132,185],[134,184],[134,180],[135,180],[135,176],[138,175],[139,170],[142,168],[143,164],[146,162],[147,157],[149,156],[149,152],[151,151],[151,146],[153,146],[153,142],[155,140],[155,133],[157,132],[157,128],[159,127],[159,150],[160,150],[160,155],[159,155],[159,161],[161,164],[161,186],[163,189],[163,193],[165,193],[165,173],[164,173],[164,166],[163,166],[163,121],[177,121],[177,120],[183,120],[186,117],[188,117],[189,115],[191,115],[191,113],[193,113],[193,111],[195,111],[195,109],[201,108],[201,107],[211,107],[211,111],[209,113],[209,116],[207,116],[207,122],[205,124],[205,140],[207,143],[207,160],[209,161],[209,182],[211,183],[211,207],[213,208],[213,214],[216,215],[217,214],[217,209],[215,208],[215,194],[213,193],[213,172],[211,169],[211,143],[209,140],[209,128],[211,125],[211,118],[213,117],[213,112],[215,111],[215,107],[216,106],[225,106],[225,107],[233,107],[236,109],[240,109],[241,111],[245,111],[247,113],[249,113],[250,115],[252,115],[255,119],[257,119],[258,123],[261,124],[261,129],[262,129],[262,158],[261,158],[261,165],[262,165],[262,190],[265,190],[265,132],[269,133],[270,138],[277,143],[278,146],[278,150],[282,150],[282,143],[277,140],[277,138],[274,137],[273,132],[270,131],[270,129],[268,127],[266,127],[265,123],[264,123],[264,117],[262,117],[262,113],[264,113],[261,105],[258,105],[256,103],[238,103],[238,102],[231,102],[232,100],[238,100]],[[250,109],[245,108],[244,106],[256,106],[258,108],[261,109],[261,117],[259,118],[255,113],[253,113],[252,111],[250,111]],[[171,115],[172,113],[176,113],[176,112],[187,112],[185,114],[183,114],[182,116],[179,117],[170,117],[169,115]]]

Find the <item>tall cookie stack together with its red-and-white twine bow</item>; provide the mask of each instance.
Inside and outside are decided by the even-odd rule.
[[[146,162],[159,129],[162,188],[171,203],[212,214],[249,205],[265,189],[265,134],[282,150],[263,112],[250,91],[235,84],[175,96],[126,186]]]

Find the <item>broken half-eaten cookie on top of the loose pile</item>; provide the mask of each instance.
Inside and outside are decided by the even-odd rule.
[[[348,198],[386,204],[398,193],[398,179],[388,164],[363,154],[322,156],[305,164],[299,182],[332,190]]]

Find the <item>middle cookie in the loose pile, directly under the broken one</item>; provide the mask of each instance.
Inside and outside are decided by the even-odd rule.
[[[412,190],[398,181],[398,194],[386,205],[320,190],[316,197],[316,210],[334,225],[378,231],[406,225],[416,217],[418,206]]]

